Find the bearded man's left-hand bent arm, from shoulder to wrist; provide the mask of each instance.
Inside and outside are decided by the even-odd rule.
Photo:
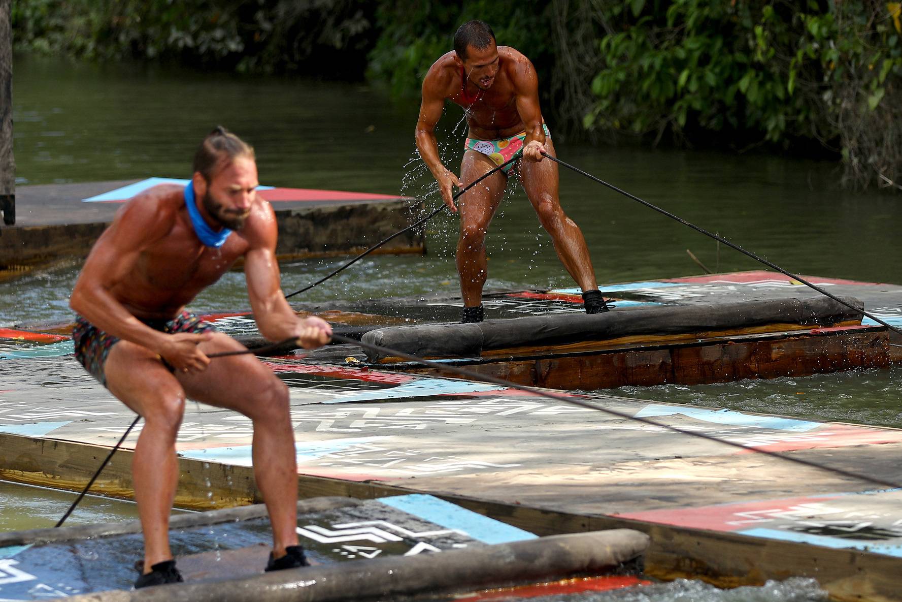
[[[132,272],[142,251],[166,236],[175,218],[176,210],[159,193],[129,201],[87,256],[69,307],[98,329],[162,354],[170,336],[135,318],[111,291]]]

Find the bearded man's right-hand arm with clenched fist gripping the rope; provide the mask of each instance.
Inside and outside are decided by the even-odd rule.
[[[254,320],[264,338],[271,341],[300,338],[304,347],[318,347],[328,342],[332,331],[327,322],[318,318],[299,320],[281,290],[279,264],[276,261],[277,226],[269,203],[260,202],[254,212],[251,248],[244,255],[244,277],[251,299]]]

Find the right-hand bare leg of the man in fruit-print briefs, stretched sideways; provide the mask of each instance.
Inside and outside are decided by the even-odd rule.
[[[550,138],[546,145],[549,153],[557,156]],[[596,290],[598,283],[583,232],[561,208],[557,192],[557,163],[548,159],[538,163],[520,159],[519,163],[523,190],[526,190],[529,202],[536,209],[539,223],[551,236],[557,257],[583,291]]]

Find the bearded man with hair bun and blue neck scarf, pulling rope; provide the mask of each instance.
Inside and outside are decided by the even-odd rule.
[[[241,412],[253,421],[253,471],[272,523],[266,570],[305,566],[298,545],[298,471],[285,384],[234,338],[185,305],[244,257],[253,317],[263,337],[303,347],[332,335],[301,319],[281,291],[276,220],[255,192],[253,148],[217,127],[200,144],[186,188],[162,184],[116,212],[78,276],[69,305],[78,314],[75,355],[87,371],[144,419],[134,449],[134,498],[144,535],[135,588],[181,581],[169,544],[179,479],[176,436],[185,401]]]

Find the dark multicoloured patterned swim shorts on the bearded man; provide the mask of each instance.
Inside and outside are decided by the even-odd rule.
[[[141,319],[139,318],[139,320]],[[182,311],[172,320],[141,321],[152,329],[165,332],[166,334],[174,334],[176,332],[199,334],[208,330],[216,330],[212,324],[201,321],[190,311]],[[96,326],[81,316],[75,317],[75,328],[72,329],[72,344],[75,346],[75,358],[104,386],[106,386],[106,374],[104,374],[106,356],[109,355],[110,349],[119,340],[119,338],[97,329]],[[162,362],[163,366],[169,368],[170,372],[173,371],[172,366],[166,360],[162,360]]]

